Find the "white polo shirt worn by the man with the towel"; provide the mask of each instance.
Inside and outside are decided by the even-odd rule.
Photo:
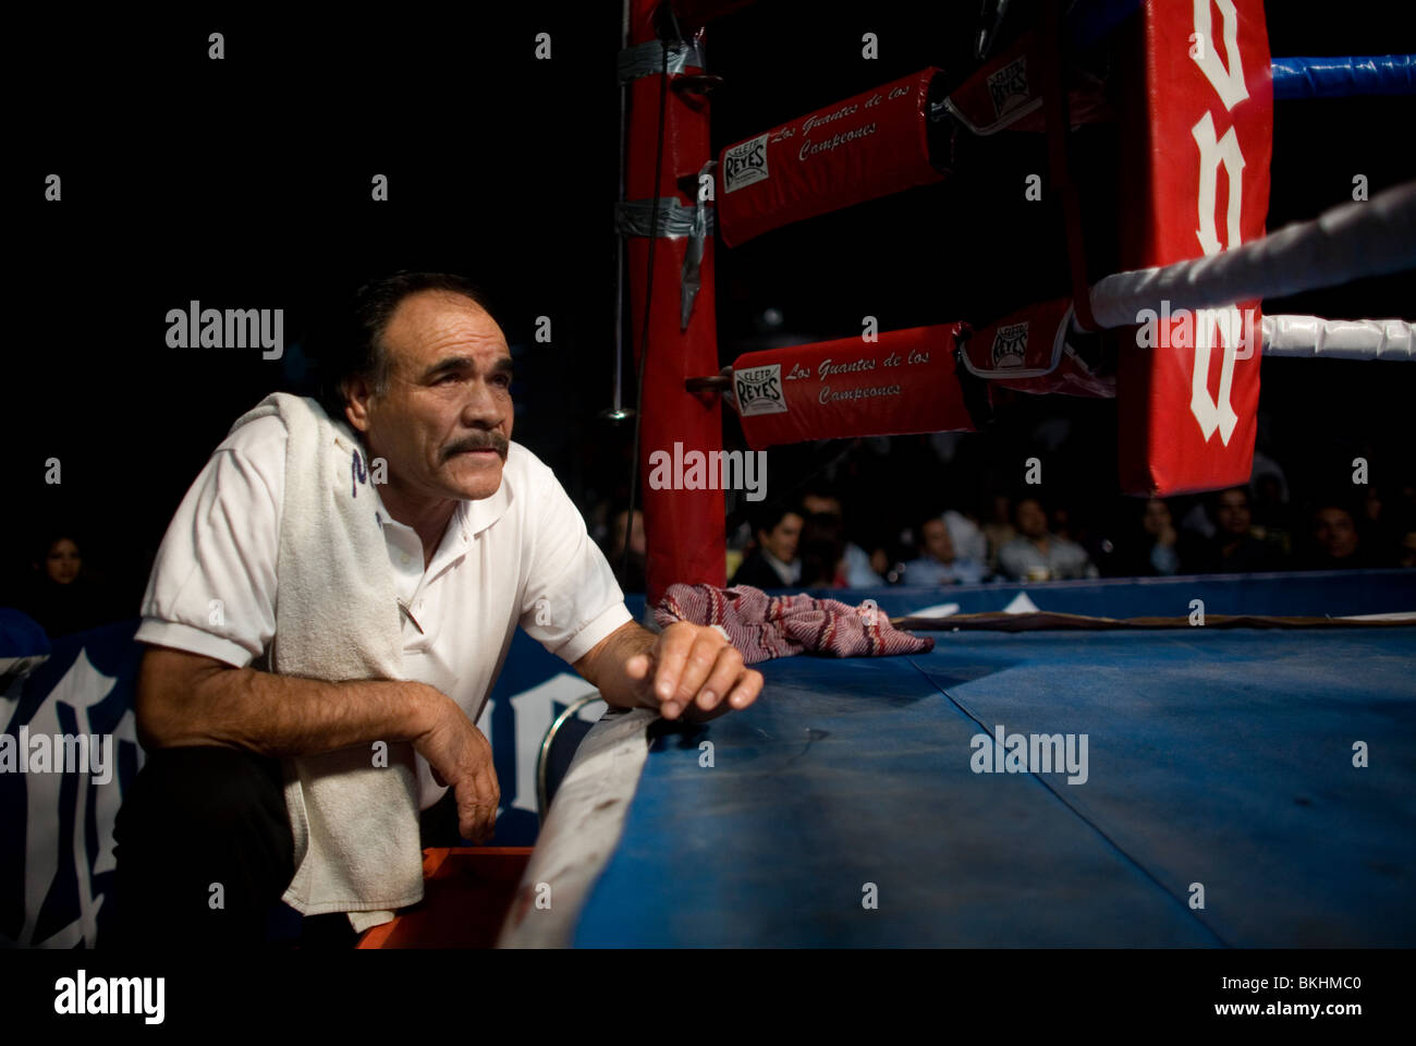
[[[236,668],[265,660],[275,636],[285,449],[285,422],[275,414],[246,422],[215,449],[157,550],[136,639]],[[497,492],[457,503],[428,570],[418,533],[391,519],[382,499],[378,517],[405,607],[404,673],[442,690],[473,721],[517,625],[575,662],[633,619],[575,503],[517,442]],[[447,791],[422,755],[418,785],[423,809]]]

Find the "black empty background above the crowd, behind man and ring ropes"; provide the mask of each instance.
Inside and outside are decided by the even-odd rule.
[[[1270,3],[1270,47],[1413,51],[1403,7]],[[167,522],[211,449],[268,393],[302,390],[312,371],[300,337],[319,303],[379,271],[480,281],[518,361],[514,438],[588,514],[627,483],[629,429],[596,417],[613,380],[617,4],[394,7],[312,24],[236,10],[147,24],[55,9],[11,38],[31,72],[13,98],[6,166],[14,268],[0,369],[0,604],[58,523],[79,539],[85,571],[136,614]],[[969,0],[857,14],[762,3],[726,16],[708,33],[711,71],[725,78],[715,152],[925,65],[961,78],[976,14]],[[225,33],[225,61],[205,57],[212,30]],[[541,31],[549,62],[532,54]],[[878,61],[861,60],[865,31],[881,40]],[[1412,115],[1410,98],[1279,103],[1269,228],[1349,200],[1354,174],[1374,194],[1413,177]],[[1100,230],[1124,191],[1106,147],[1086,156]],[[882,329],[986,323],[1056,293],[1056,230],[1017,190],[1025,170],[1045,170],[1041,149],[1007,142],[993,169],[719,245],[722,361],[767,336],[858,333],[865,313]],[[62,203],[42,198],[50,173],[64,179]],[[375,173],[389,177],[388,203],[370,201]],[[1412,289],[1405,274],[1266,310],[1412,319]],[[191,299],[283,308],[285,357],[169,349],[166,313]],[[770,333],[759,322],[767,308],[784,319]],[[531,340],[538,315],[552,319],[551,344]],[[1344,462],[1364,452],[1374,476],[1409,475],[1413,393],[1409,364],[1266,360],[1260,448],[1290,473],[1349,473]],[[898,505],[908,524],[920,496],[977,500],[1052,417],[1072,421],[1076,444],[1051,493],[1113,505],[1114,414],[1114,401],[1018,397],[949,466],[923,438],[895,439],[874,479],[881,506]],[[726,428],[739,438],[731,418]],[[769,489],[823,451],[834,452],[773,452]],[[58,486],[44,482],[51,456],[62,462]]]

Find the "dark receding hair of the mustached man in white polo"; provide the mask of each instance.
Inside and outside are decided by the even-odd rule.
[[[399,271],[368,281],[331,309],[317,334],[319,398],[331,418],[344,417],[344,381],[348,378],[364,378],[377,395],[388,391],[391,364],[384,332],[399,303],[421,291],[447,291],[491,312],[481,288],[452,272]]]

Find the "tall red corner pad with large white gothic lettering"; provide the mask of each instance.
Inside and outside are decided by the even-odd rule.
[[[1263,0],[1147,0],[1126,33],[1134,47],[1120,65],[1121,268],[1257,240],[1273,157]],[[1151,344],[1127,346],[1120,357],[1121,490],[1170,497],[1249,482],[1260,305],[1191,316],[1158,303]]]

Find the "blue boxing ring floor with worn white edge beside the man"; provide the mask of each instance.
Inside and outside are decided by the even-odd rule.
[[[1409,571],[868,595],[967,612],[1022,591],[1124,617],[1191,598],[1212,614],[1416,608]],[[501,943],[1416,943],[1416,626],[930,635],[923,655],[763,662],[763,697],[702,726],[602,720],[524,879],[545,876],[554,903],[514,909]],[[997,729],[1086,736],[1085,780],[976,768]],[[639,772],[605,774],[603,738]],[[561,816],[583,767],[598,782],[582,805],[616,816]]]

